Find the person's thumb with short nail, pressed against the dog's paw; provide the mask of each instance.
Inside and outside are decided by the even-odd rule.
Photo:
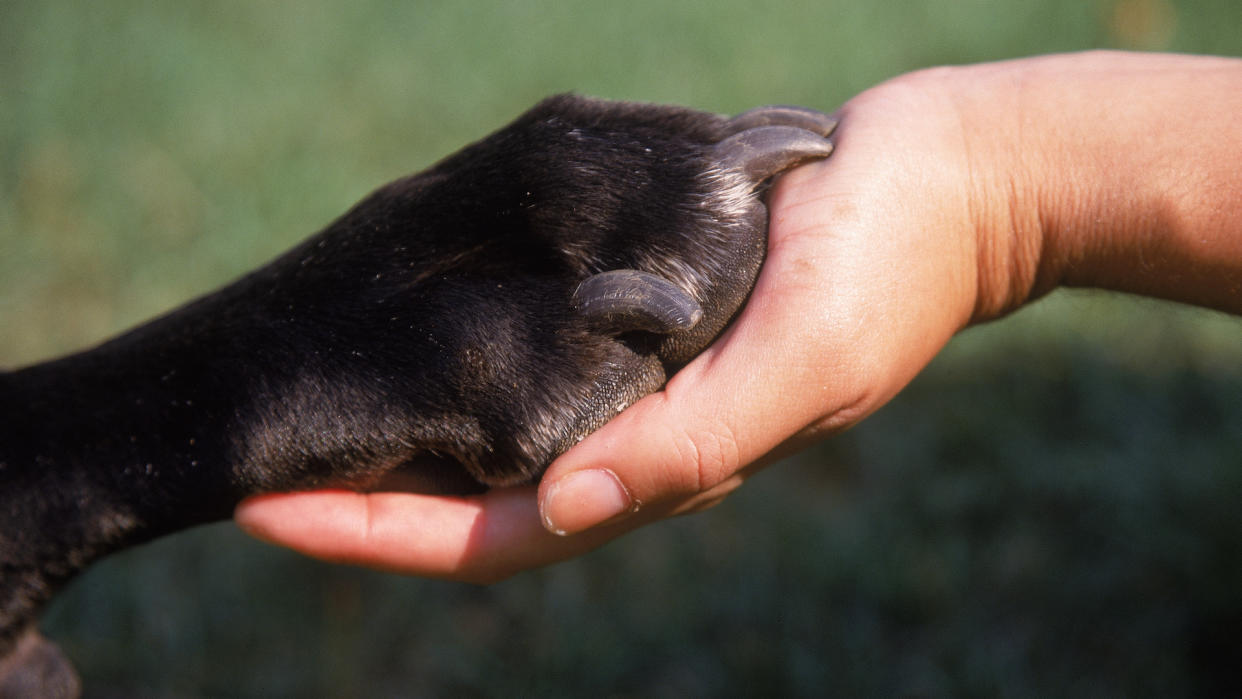
[[[756,318],[764,315],[759,300],[663,391],[633,404],[549,467],[539,487],[545,528],[573,534],[640,509],[683,512],[714,503],[741,482],[746,467],[816,420],[825,400],[814,394],[825,386],[806,380],[807,361],[774,361],[790,340],[780,338],[779,323]]]

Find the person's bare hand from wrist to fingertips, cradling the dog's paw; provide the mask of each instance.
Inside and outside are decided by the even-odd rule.
[[[833,163],[771,192],[768,259],[733,327],[558,459],[538,490],[265,495],[238,523],[334,561],[493,580],[714,504],[776,454],[852,425],[971,314],[974,230],[944,206],[965,201],[965,164],[936,153],[951,145],[927,118],[938,102],[903,87],[851,102]]]

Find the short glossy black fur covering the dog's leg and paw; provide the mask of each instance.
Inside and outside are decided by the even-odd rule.
[[[715,144],[751,125],[555,97],[216,293],[0,374],[0,658],[91,561],[250,494],[369,488],[427,453],[537,478],[744,300],[766,214]],[[570,299],[617,268],[702,320],[601,330]]]

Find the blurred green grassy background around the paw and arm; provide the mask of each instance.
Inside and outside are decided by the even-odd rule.
[[[1088,47],[1240,55],[1242,4],[4,0],[0,366],[207,292],[553,92],[832,109]],[[472,587],[221,524],[98,565],[45,628],[88,697],[1237,695],[1240,356],[1237,318],[1061,292],[576,561]]]

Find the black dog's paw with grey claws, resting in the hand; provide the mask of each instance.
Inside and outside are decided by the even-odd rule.
[[[271,341],[313,356],[284,402],[368,418],[299,408],[251,441],[294,457],[273,473],[314,462],[304,444],[353,463],[405,444],[487,485],[530,480],[719,334],[763,262],[764,184],[828,155],[833,127],[794,107],[725,119],[561,96],[380,189],[263,273],[302,309]]]

